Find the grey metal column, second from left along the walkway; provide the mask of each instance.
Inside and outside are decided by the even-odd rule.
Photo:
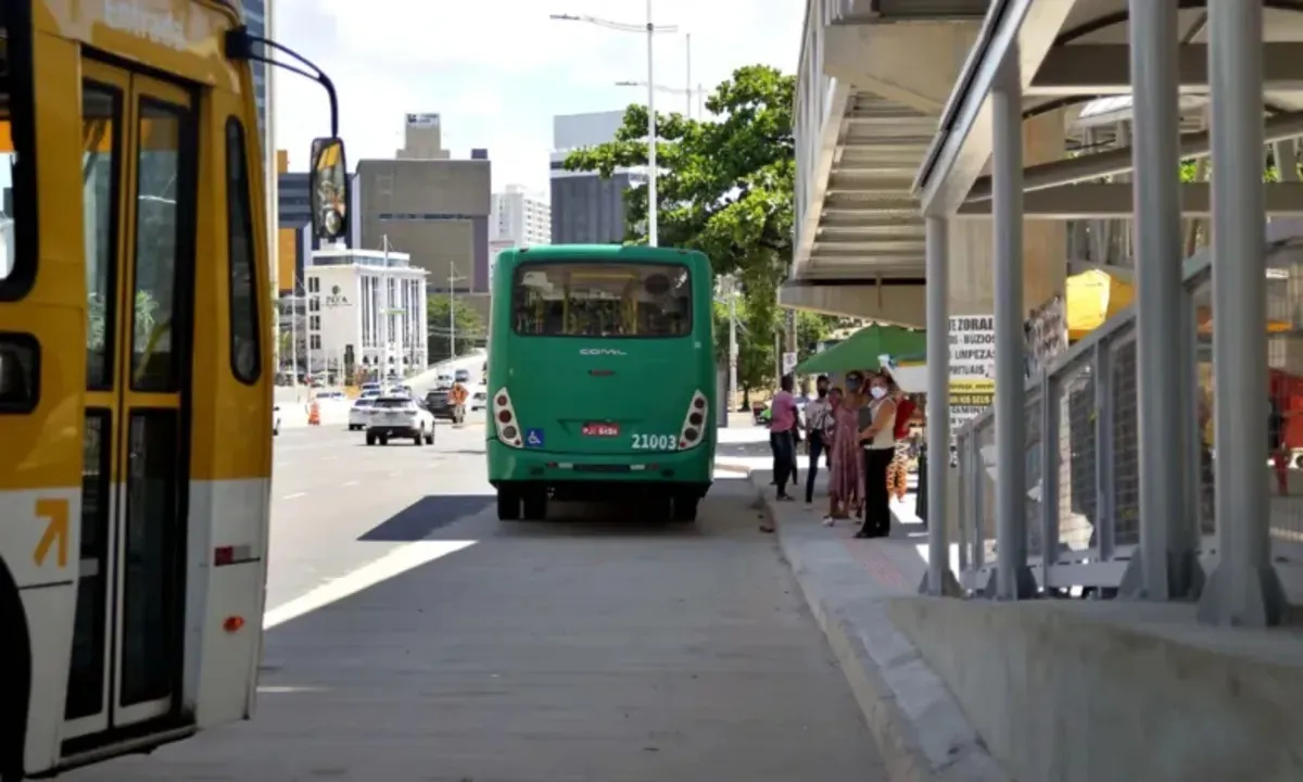
[[[992,228],[995,237],[995,534],[986,594],[1036,594],[1027,566],[1027,366],[1023,335],[1023,87],[1010,47],[992,90]]]

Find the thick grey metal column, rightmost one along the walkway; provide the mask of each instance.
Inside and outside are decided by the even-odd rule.
[[[1263,195],[1263,4],[1209,0],[1213,373],[1221,559],[1199,606],[1216,624],[1278,624],[1267,459],[1267,268]]]

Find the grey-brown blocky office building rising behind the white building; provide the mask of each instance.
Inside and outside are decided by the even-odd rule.
[[[354,245],[409,254],[430,292],[487,295],[491,163],[451,159],[438,115],[408,115],[407,141],[394,160],[358,162]]]

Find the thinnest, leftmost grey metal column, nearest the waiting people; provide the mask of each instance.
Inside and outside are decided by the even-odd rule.
[[[928,572],[919,592],[959,597],[950,570],[950,222],[928,216]]]

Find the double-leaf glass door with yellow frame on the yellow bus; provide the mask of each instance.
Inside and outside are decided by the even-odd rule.
[[[197,106],[99,61],[83,80],[90,314],[65,756],[176,717],[185,658]]]

